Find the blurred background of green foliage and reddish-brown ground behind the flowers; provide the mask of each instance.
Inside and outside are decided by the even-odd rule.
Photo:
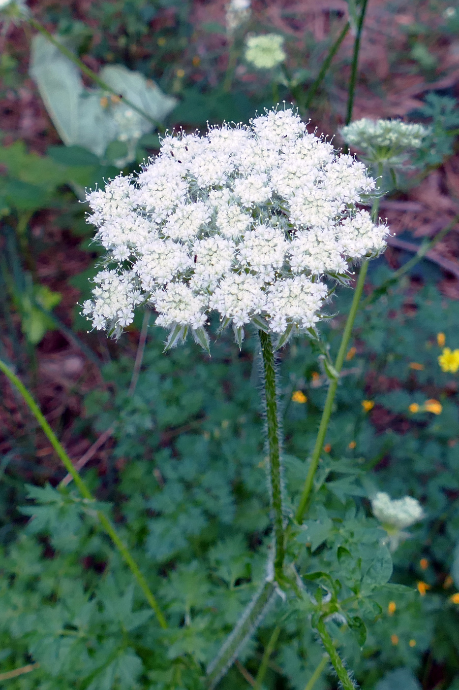
[[[30,27],[3,25],[0,357],[32,388],[74,461],[85,460],[85,477],[112,510],[172,621],[160,634],[91,511],[72,491],[55,489],[61,466],[2,380],[5,687],[201,687],[198,664],[212,658],[263,576],[269,529],[256,341],[247,339],[238,352],[223,336],[211,359],[192,344],[163,355],[165,334],[141,315],[116,345],[87,333],[78,304],[89,295],[100,250],[85,224],[84,190],[103,186],[120,170],[138,170],[159,149],[165,128],[247,122],[278,101],[292,101],[311,130],[336,135],[345,120],[359,8],[354,0],[254,0],[252,12],[231,28],[225,3],[217,0],[31,2],[32,16],[90,70],[107,75],[123,68],[128,81],[148,85],[167,103],[153,113],[139,101],[155,122],[136,121],[124,136],[125,129],[110,129],[120,103],[72,68],[74,90],[83,101],[92,99],[96,115],[90,117],[99,117],[88,119],[88,127],[111,118],[98,146],[65,133],[68,124],[58,124],[51,102],[55,83],[43,86],[32,69],[39,91],[30,77],[30,47],[37,46]],[[309,103],[347,21],[350,30]],[[286,59],[257,70],[245,59],[244,41],[266,33],[283,37]],[[458,226],[428,259],[370,297],[371,286],[389,279],[420,239],[436,235],[458,213],[458,34],[459,10],[446,2],[369,1],[354,119],[403,117],[431,125],[431,137],[412,168],[385,180],[381,216],[394,237],[385,257],[371,264],[321,462],[309,524],[314,539],[303,545],[305,559],[352,579],[343,554],[365,551],[369,495],[409,494],[424,506],[425,519],[393,554],[394,586],[381,589],[374,609],[359,613],[367,622],[365,642],[334,624],[334,640],[365,690],[459,688],[459,387],[458,374],[438,365],[445,346],[459,348]],[[119,83],[113,88],[121,91]],[[61,92],[53,93],[59,101]],[[137,102],[135,89],[123,95]],[[73,102],[75,112],[70,105],[63,112],[81,121],[81,103]],[[336,145],[343,145],[339,136]],[[332,354],[350,297],[338,291],[339,315],[324,326]],[[294,500],[327,379],[309,342],[293,342],[280,356]],[[372,529],[379,529],[376,521]],[[323,649],[307,611],[298,605],[285,618],[279,602],[222,690],[256,687],[278,628],[263,687],[312,689]],[[14,676],[14,669],[28,672]],[[337,680],[323,668],[314,687],[334,689]]]

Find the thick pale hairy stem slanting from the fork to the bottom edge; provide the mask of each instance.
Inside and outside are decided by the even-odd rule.
[[[207,667],[207,687],[212,690],[225,675],[245,642],[256,631],[276,597],[276,584],[266,581],[245,609],[223,647]]]

